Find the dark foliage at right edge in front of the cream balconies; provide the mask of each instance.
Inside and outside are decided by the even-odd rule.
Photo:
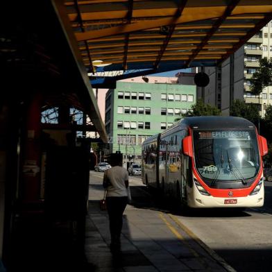
[[[260,68],[250,78],[250,91],[260,95],[265,87],[272,86],[272,62],[267,58],[260,60]]]

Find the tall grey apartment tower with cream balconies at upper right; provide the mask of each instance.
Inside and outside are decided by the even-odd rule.
[[[266,87],[262,94],[250,92],[250,78],[260,67],[260,59],[272,60],[272,22],[264,26],[220,67],[201,67],[210,76],[207,87],[198,87],[197,97],[205,103],[217,106],[223,115],[229,115],[230,105],[235,99],[260,105],[260,115],[264,116],[267,105],[272,104],[272,88]]]

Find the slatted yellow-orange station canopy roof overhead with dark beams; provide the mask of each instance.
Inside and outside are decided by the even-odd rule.
[[[269,0],[66,0],[92,85],[219,65],[272,19]]]

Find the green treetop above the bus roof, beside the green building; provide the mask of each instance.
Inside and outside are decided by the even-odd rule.
[[[196,103],[192,105],[192,110],[189,110],[185,114],[182,114],[182,117],[207,115],[221,115],[221,110],[210,104],[205,104],[202,99],[198,99],[198,101],[196,101]]]

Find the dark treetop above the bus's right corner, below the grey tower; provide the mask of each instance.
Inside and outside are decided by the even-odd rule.
[[[260,117],[257,105],[246,104],[245,101],[241,101],[239,99],[233,101],[232,105],[230,106],[230,115],[248,119],[249,121],[253,122],[255,126],[257,126]]]

